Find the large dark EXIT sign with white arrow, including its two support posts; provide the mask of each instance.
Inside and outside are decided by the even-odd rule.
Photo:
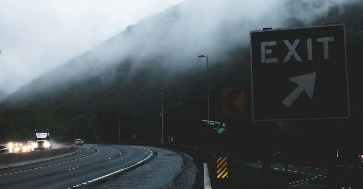
[[[250,53],[254,121],[350,117],[343,24],[251,31]],[[269,158],[264,165],[268,176]]]

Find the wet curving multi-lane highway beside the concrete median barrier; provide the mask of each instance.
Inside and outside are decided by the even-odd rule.
[[[203,188],[203,173],[182,152],[118,144],[85,144],[78,150],[0,169],[0,188]]]

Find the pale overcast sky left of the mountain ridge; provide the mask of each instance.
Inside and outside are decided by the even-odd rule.
[[[0,0],[0,89],[15,92],[183,0]]]

